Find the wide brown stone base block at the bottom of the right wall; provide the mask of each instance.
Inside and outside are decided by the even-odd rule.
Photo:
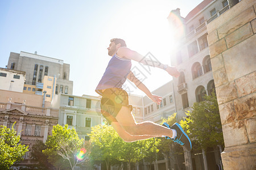
[[[255,169],[256,167],[256,143],[236,147],[225,147],[221,153],[225,170]]]

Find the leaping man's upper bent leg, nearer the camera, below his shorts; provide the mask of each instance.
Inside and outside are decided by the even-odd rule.
[[[123,106],[115,117],[127,133],[130,135],[158,135],[172,137],[172,130],[154,122],[141,122],[137,124],[129,107]]]

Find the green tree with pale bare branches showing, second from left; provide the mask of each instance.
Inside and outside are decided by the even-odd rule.
[[[55,167],[60,167],[61,156],[62,162],[66,160],[73,170],[80,161],[76,159],[76,155],[79,153],[83,142],[84,139],[79,139],[75,129],[68,129],[68,125],[64,127],[56,125],[53,126],[52,135],[47,138],[47,149],[43,150],[43,153],[48,156],[49,162]]]

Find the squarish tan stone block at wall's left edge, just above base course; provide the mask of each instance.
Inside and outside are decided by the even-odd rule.
[[[243,120],[222,125],[225,147],[248,143],[245,122]]]

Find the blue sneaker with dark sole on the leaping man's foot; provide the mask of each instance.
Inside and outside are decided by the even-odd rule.
[[[166,128],[170,128],[170,125],[167,123],[164,123],[163,126]],[[191,150],[192,144],[187,134],[185,134],[184,130],[181,128],[181,126],[177,123],[171,126],[170,129],[175,129],[177,132],[177,135],[174,139],[170,137],[166,137],[167,139],[172,139],[172,141],[179,143],[181,146],[184,146],[188,151]]]

